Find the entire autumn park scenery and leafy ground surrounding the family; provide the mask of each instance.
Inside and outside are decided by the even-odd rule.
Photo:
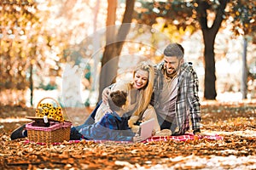
[[[255,10],[253,0],[1,0],[0,169],[255,169]],[[223,139],[9,139],[44,97],[84,122],[102,88],[159,62],[168,42],[200,79],[201,132]]]

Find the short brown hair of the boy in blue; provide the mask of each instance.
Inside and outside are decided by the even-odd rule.
[[[119,111],[127,100],[127,93],[117,90],[112,92],[108,98],[108,105],[112,111]]]

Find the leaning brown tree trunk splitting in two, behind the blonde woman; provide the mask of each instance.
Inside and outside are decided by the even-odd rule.
[[[118,31],[115,31],[117,1],[108,0],[106,46],[102,57],[99,94],[102,94],[102,90],[115,80],[116,71],[118,70],[119,54],[125,43],[125,37],[130,30],[130,24],[126,25],[126,23],[131,23],[134,4],[135,0],[126,0],[122,25],[119,26]],[[102,96],[99,95],[99,100],[101,98]]]

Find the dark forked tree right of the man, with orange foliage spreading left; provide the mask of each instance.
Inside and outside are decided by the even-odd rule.
[[[187,26],[201,27],[203,40],[205,44],[204,61],[205,61],[205,99],[215,99],[216,93],[216,76],[215,76],[215,59],[214,59],[214,41],[224,20],[224,9],[228,0],[209,1],[209,0],[191,0],[180,1],[172,0],[170,2],[143,3],[145,12],[137,14],[139,23],[155,23],[157,17],[166,19],[166,25],[172,24],[179,29],[185,29]],[[214,14],[214,19],[209,20],[209,15]],[[212,23],[211,23],[212,22]]]

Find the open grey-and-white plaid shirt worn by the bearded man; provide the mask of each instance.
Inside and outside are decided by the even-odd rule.
[[[154,94],[152,95],[151,104],[154,105],[154,108],[157,108],[165,78],[163,74],[164,62],[155,65],[154,68]],[[175,108],[177,127],[174,134],[183,134],[189,130],[189,114],[193,130],[200,128],[201,109],[198,97],[198,77],[191,64],[183,63],[177,78],[177,101]]]

